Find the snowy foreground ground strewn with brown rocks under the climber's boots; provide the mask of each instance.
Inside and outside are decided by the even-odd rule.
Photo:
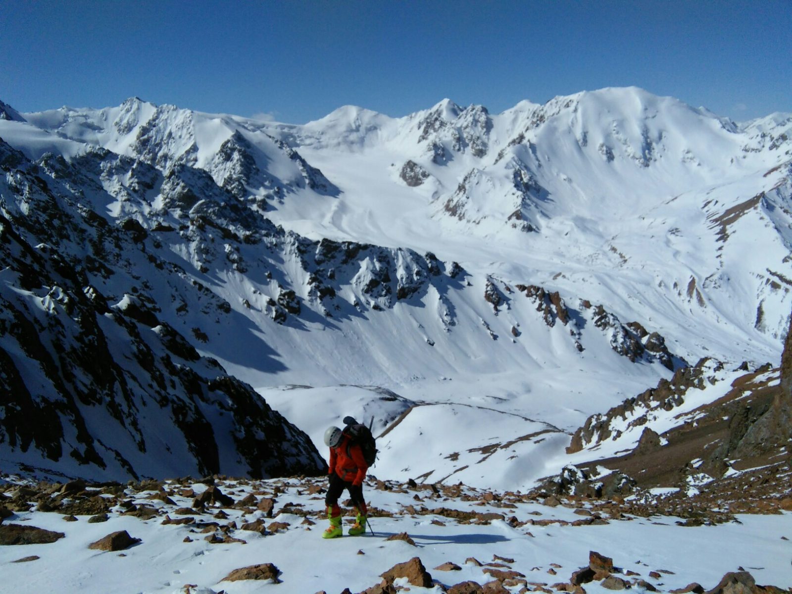
[[[156,591],[251,592],[235,588],[255,580],[280,584],[277,589],[284,592],[315,592],[313,586],[322,583],[322,576],[307,580],[313,571],[311,564],[317,562],[310,554],[296,561],[292,555],[285,562],[287,565],[283,561],[275,562],[283,550],[296,546],[298,550],[318,547],[335,564],[337,573],[349,577],[350,586],[368,579],[367,588],[354,586],[343,590],[350,593],[422,592],[424,588],[453,594],[554,591],[581,594],[587,588],[596,592],[602,588],[638,588],[672,594],[792,592],[792,588],[756,584],[756,578],[742,566],[734,567],[734,571],[725,573],[715,583],[707,575],[711,571],[704,571],[706,567],[691,565],[682,571],[679,565],[655,566],[641,559],[635,561],[638,550],[644,550],[647,543],[642,542],[638,547],[635,543],[622,543],[619,548],[613,548],[603,538],[602,531],[611,527],[622,530],[622,527],[630,528],[630,524],[640,525],[641,530],[661,527],[664,531],[676,531],[674,538],[683,542],[695,530],[718,530],[718,527],[695,528],[710,523],[713,518],[737,525],[740,518],[746,518],[737,513],[772,513],[779,515],[779,522],[786,522],[790,530],[788,536],[778,541],[779,552],[783,547],[786,554],[783,558],[779,554],[777,559],[767,559],[767,564],[788,564],[792,548],[787,539],[792,538],[792,524],[786,521],[790,515],[785,510],[792,510],[790,497],[768,500],[767,505],[746,510],[729,512],[727,508],[718,513],[710,509],[709,503],[695,510],[703,500],[694,498],[687,500],[692,510],[687,517],[661,516],[658,512],[665,508],[658,506],[657,497],[640,490],[627,497],[603,498],[552,494],[543,489],[530,493],[493,493],[461,484],[373,479],[367,484],[371,534],[330,542],[319,538],[324,528],[325,485],[321,478],[258,481],[217,475],[198,481],[181,478],[126,485],[89,485],[82,481],[32,484],[0,475],[0,565],[14,584],[11,564],[25,564],[24,573],[28,577],[17,583],[14,591],[41,591],[44,582],[36,579],[46,580],[46,575],[52,573],[60,580],[74,569],[69,562],[59,561],[64,554],[74,558],[74,565],[81,566],[92,562],[92,556],[99,554],[97,551],[116,557],[116,561],[110,558],[97,561],[102,565],[151,554],[154,566],[162,556],[154,548],[167,543],[168,554],[180,560],[173,562],[173,567],[168,565],[171,575],[165,582],[166,589]],[[695,517],[706,520],[691,522]],[[351,523],[351,516],[348,520]],[[591,540],[595,534],[596,538]],[[561,550],[588,541],[599,543],[602,552],[589,549],[588,560],[581,556],[571,564],[554,559],[552,547],[558,545],[543,544],[553,540],[546,537],[554,535],[561,537],[555,540],[564,543]],[[712,537],[706,536],[707,541],[710,538],[718,537],[713,533]],[[438,543],[451,546],[437,552],[441,548],[436,546]],[[478,544],[471,548],[475,543]],[[59,546],[59,554],[50,554]],[[379,549],[386,550],[384,556]],[[226,554],[213,556],[211,569],[202,567],[202,573],[196,573],[203,575],[203,580],[193,581],[187,569],[180,569],[179,563],[204,558],[215,550]],[[83,554],[89,557],[79,562]],[[352,557],[364,558],[364,575],[360,575],[360,569],[354,569],[357,562]],[[134,562],[129,560],[130,564]],[[53,566],[58,563],[63,565]],[[744,563],[748,565],[747,561]],[[129,568],[127,565],[124,571],[139,570]],[[173,574],[182,572],[184,580],[173,579]],[[36,579],[32,578],[34,573]],[[78,579],[84,578],[74,577]],[[326,583],[335,587],[339,579],[343,581],[346,577],[327,579]],[[68,579],[63,584],[54,582],[48,591],[67,592],[76,583]],[[98,585],[101,590],[102,584]],[[86,586],[96,588],[97,584],[83,582],[82,587]],[[322,587],[324,592],[333,592]],[[123,591],[139,589],[135,586]]]

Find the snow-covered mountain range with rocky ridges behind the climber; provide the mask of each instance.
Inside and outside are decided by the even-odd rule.
[[[143,367],[166,385],[138,382],[139,398],[181,394],[176,370],[204,378],[195,406],[215,435],[246,425],[204,402],[228,373],[318,447],[333,420],[375,417],[389,429],[378,474],[509,489],[562,465],[587,417],[703,356],[777,361],[789,326],[789,115],[737,124],[635,88],[497,115],[347,106],[304,125],[137,98],[2,110],[2,382],[43,409],[64,390],[40,378],[67,383],[96,424],[59,438],[83,444],[77,474],[128,474],[83,451],[134,457],[134,440],[97,428],[107,415],[159,430],[143,406],[116,414],[86,362],[59,360],[97,329],[120,375],[140,376],[143,344],[175,365]],[[46,337],[39,355],[15,323]],[[63,466],[63,446],[12,438],[3,405],[4,463]],[[493,436],[511,445],[482,472]],[[249,471],[232,441],[212,468]],[[151,456],[133,466],[169,471]]]

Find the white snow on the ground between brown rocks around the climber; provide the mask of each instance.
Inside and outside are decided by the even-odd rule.
[[[193,488],[200,493],[205,486]],[[524,573],[528,581],[554,584],[567,581],[573,571],[588,563],[588,551],[596,550],[613,558],[624,571],[632,570],[655,584],[661,592],[683,588],[697,581],[705,589],[713,588],[729,571],[743,566],[756,578],[757,584],[788,587],[792,584],[789,558],[792,555],[792,513],[780,516],[738,516],[739,523],[718,526],[678,527],[675,518],[640,518],[611,521],[602,526],[531,526],[512,528],[501,520],[491,524],[457,524],[444,516],[409,516],[403,506],[412,505],[413,492],[394,493],[375,491],[370,483],[364,486],[371,503],[385,511],[397,512],[389,517],[371,519],[374,535],[343,536],[340,539],[321,538],[325,522],[314,526],[301,524],[302,517],[281,513],[268,519],[263,512],[248,514],[227,509],[230,518],[241,525],[262,517],[287,522],[286,531],[265,536],[252,531],[236,531],[246,544],[210,544],[205,534],[192,531],[189,525],[162,525],[162,518],[139,520],[131,516],[110,515],[107,522],[88,524],[88,516],[78,516],[77,522],[64,522],[57,513],[22,512],[6,523],[41,527],[65,534],[56,543],[0,547],[2,589],[4,592],[27,594],[33,592],[128,592],[129,594],[184,594],[188,592],[220,592],[252,594],[253,592],[341,592],[350,588],[360,592],[379,584],[380,573],[393,565],[418,557],[432,578],[451,585],[472,580],[480,584],[492,578],[467,558],[479,562],[497,561],[493,555],[513,559],[508,565]],[[239,496],[250,491],[249,486],[234,489]],[[279,501],[304,505],[321,511],[322,501],[308,496],[294,483],[286,483]],[[422,492],[425,493],[425,492]],[[508,512],[519,520],[555,518],[573,521],[580,519],[569,508],[547,508],[535,503],[520,503],[516,508],[503,509],[490,504],[481,505],[482,493],[466,492],[471,501],[440,502],[438,505],[471,512]],[[140,493],[135,501],[159,506],[150,501],[151,493]],[[319,497],[321,500],[321,497]],[[175,497],[177,505],[189,505],[184,497]],[[433,504],[432,504],[433,505]],[[276,508],[280,503],[276,504]],[[174,518],[181,516],[173,516]],[[211,521],[211,517],[206,517]],[[439,520],[445,525],[432,524]],[[347,524],[348,525],[348,524]],[[128,531],[141,542],[123,551],[89,550],[89,543],[114,531]],[[386,541],[386,537],[407,532],[415,547],[403,541]],[[185,537],[192,542],[185,543]],[[717,543],[717,546],[714,546]],[[359,552],[360,551],[360,552]],[[362,553],[362,554],[360,554]],[[36,555],[33,562],[12,563]],[[445,562],[455,562],[458,571],[433,569]],[[274,563],[280,569],[280,584],[270,581],[222,581],[233,569]],[[557,564],[558,575],[549,575],[550,564]],[[660,579],[649,577],[650,571],[662,570]],[[443,592],[440,586],[421,588],[406,584],[411,592]],[[610,592],[600,584],[585,584],[587,592]],[[510,591],[517,592],[519,586]]]

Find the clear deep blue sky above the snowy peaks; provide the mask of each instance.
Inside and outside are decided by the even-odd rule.
[[[0,0],[0,100],[21,112],[138,96],[301,124],[605,86],[792,112],[792,0]]]

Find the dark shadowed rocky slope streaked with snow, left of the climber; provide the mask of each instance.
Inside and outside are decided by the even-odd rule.
[[[147,253],[135,221],[91,208],[99,189],[62,165],[50,175],[0,141],[2,457],[105,479],[322,473],[310,439],[147,296],[200,288]]]

